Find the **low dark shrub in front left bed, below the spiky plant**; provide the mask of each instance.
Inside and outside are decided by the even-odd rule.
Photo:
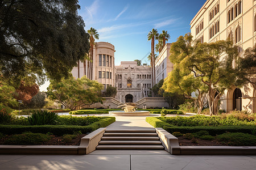
[[[10,136],[5,140],[4,145],[42,145],[49,139],[51,137],[47,134],[26,132]]]

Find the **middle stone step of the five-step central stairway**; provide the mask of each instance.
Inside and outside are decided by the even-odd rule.
[[[102,137],[101,140],[110,140],[110,141],[159,141],[159,137]]]

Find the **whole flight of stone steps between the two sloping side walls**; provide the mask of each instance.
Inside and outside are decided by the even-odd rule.
[[[105,130],[97,150],[163,150],[155,130]]]

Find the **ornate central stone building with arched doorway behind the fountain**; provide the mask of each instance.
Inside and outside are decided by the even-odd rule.
[[[151,67],[137,66],[136,61],[121,61],[115,66],[115,99],[125,102],[136,102],[150,96]]]

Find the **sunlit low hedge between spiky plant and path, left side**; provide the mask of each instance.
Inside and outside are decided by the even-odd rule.
[[[101,117],[96,117],[96,116],[77,117],[77,116],[65,115],[65,116],[59,117],[57,125],[86,126],[100,120],[101,120]]]

